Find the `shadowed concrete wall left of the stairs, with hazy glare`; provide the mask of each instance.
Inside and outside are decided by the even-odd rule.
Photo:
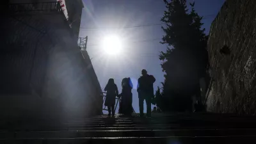
[[[3,19],[1,120],[101,114],[99,82],[63,13],[20,13]]]

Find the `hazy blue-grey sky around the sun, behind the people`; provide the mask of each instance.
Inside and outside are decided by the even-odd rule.
[[[166,51],[166,45],[159,44],[163,31],[160,21],[165,6],[162,0],[83,0],[84,10],[80,36],[88,36],[87,51],[92,58],[102,90],[113,77],[121,92],[121,81],[131,77],[136,81],[145,68],[148,74],[156,77],[154,90],[164,81],[159,60],[159,51]],[[188,0],[192,2],[193,0]],[[225,0],[195,0],[196,12],[203,19],[206,33],[209,33],[212,20],[216,17]],[[156,24],[147,26],[148,24]],[[133,27],[137,26],[137,27]],[[128,27],[128,28],[127,28]],[[131,28],[132,27],[132,28]],[[109,29],[111,28],[111,29]],[[114,29],[115,28],[115,29]],[[119,29],[116,29],[119,28]],[[109,56],[102,51],[102,38],[118,35],[122,38],[123,50],[119,56]],[[139,112],[138,93],[132,90],[132,106]],[[144,108],[145,110],[145,108]],[[116,111],[117,112],[117,111]]]

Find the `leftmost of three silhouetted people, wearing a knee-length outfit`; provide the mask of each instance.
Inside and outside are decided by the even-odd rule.
[[[118,95],[118,89],[114,82],[114,79],[109,79],[108,84],[104,88],[104,91],[107,91],[105,106],[108,106],[108,115],[115,115],[115,103],[116,103],[116,95]]]

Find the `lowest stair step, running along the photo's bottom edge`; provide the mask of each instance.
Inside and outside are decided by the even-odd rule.
[[[15,144],[84,144],[84,143],[124,143],[124,144],[172,144],[172,143],[186,143],[186,144],[221,144],[221,143],[252,143],[255,141],[255,136],[225,136],[225,137],[155,137],[155,138],[52,138],[52,139],[20,139],[20,140],[0,140],[0,143],[15,143]]]

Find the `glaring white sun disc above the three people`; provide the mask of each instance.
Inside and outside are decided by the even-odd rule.
[[[104,51],[108,54],[118,54],[122,49],[121,40],[118,36],[106,36],[103,41]]]

